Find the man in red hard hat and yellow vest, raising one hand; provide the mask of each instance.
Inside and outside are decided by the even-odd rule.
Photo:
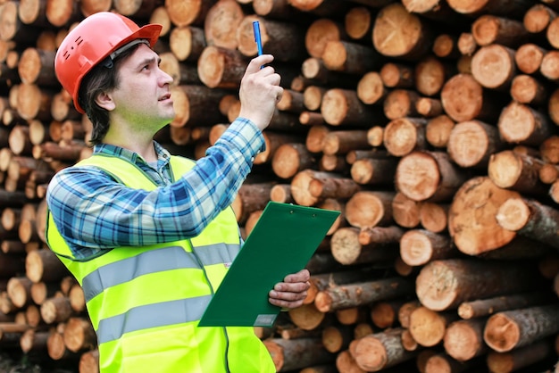
[[[197,162],[172,156],[153,140],[174,115],[152,49],[160,31],[98,12],[59,47],[57,77],[93,122],[95,147],[49,184],[47,242],[84,289],[102,373],[272,372],[252,327],[197,323],[240,249],[229,204],[263,151],[280,76],[260,69],[271,55],[254,58],[239,118]],[[298,307],[308,279],[288,275],[270,303]]]

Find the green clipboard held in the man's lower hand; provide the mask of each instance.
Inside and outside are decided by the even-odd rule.
[[[305,268],[339,211],[269,202],[198,327],[271,327],[280,307],[268,302],[274,285]]]

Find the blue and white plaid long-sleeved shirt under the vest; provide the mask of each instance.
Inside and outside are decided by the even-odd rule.
[[[156,168],[127,149],[96,145],[145,170],[159,186],[138,190],[91,166],[68,167],[49,183],[46,203],[56,227],[78,259],[119,246],[153,245],[197,236],[233,202],[265,148],[262,132],[238,119],[188,173],[173,180],[170,153],[154,142]]]

